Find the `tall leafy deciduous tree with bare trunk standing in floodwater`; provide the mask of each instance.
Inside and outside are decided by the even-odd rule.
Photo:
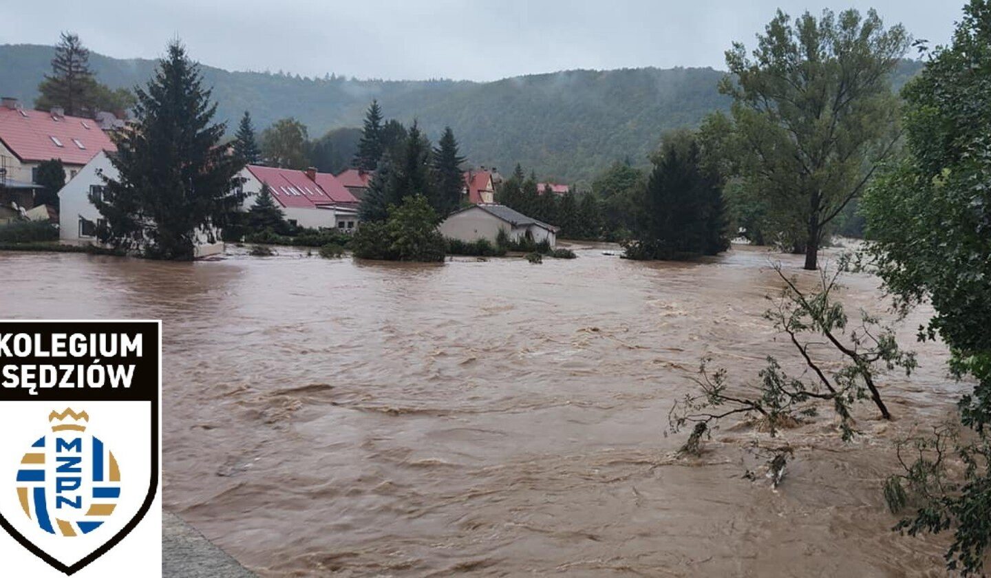
[[[779,11],[752,59],[740,43],[726,53],[733,76],[720,89],[733,99],[741,174],[766,195],[775,232],[804,249],[806,269],[817,268],[828,227],[895,147],[889,76],[908,43],[873,10],[807,12],[794,23]]]

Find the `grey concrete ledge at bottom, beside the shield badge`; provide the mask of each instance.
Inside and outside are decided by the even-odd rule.
[[[227,552],[170,512],[162,513],[165,578],[255,578]]]

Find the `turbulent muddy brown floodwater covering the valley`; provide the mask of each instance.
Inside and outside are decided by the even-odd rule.
[[[0,316],[163,319],[165,507],[263,576],[944,575],[944,543],[887,531],[879,490],[894,440],[958,391],[942,348],[913,343],[926,311],[902,332],[922,368],[885,380],[896,420],[864,408],[868,435],[846,445],[826,416],[787,431],[774,492],[741,478],[752,430],[724,427],[691,460],[665,435],[703,355],[734,381],[794,359],[761,318],[768,254],[578,253],[0,253]],[[848,306],[883,308],[876,280],[845,284]]]

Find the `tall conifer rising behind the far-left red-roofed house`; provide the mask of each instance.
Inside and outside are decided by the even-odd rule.
[[[63,32],[52,58],[52,74],[46,74],[39,84],[41,96],[35,105],[43,110],[60,106],[68,116],[87,115],[88,93],[95,83],[89,68],[89,51],[77,35]]]

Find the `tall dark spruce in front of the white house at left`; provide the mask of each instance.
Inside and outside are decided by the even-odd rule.
[[[220,147],[222,124],[198,66],[178,43],[137,92],[135,126],[115,137],[119,173],[102,196],[90,195],[107,220],[102,241],[157,259],[193,258],[197,232],[213,240],[241,202],[240,162]]]

